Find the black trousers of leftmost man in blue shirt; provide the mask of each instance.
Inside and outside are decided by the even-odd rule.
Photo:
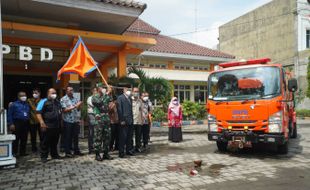
[[[28,120],[15,120],[15,131],[13,134],[15,135],[15,140],[13,141],[13,154],[18,153],[24,155],[26,154],[26,145],[27,145],[27,137],[29,130],[29,121]]]

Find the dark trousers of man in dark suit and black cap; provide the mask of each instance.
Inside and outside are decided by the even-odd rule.
[[[119,126],[119,154],[126,153],[133,150],[132,146],[133,125],[120,125]]]

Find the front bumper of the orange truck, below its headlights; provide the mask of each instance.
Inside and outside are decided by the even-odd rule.
[[[261,134],[252,131],[224,131],[222,133],[209,132],[209,141],[233,141],[234,138],[243,138],[245,142],[251,143],[274,143],[274,144],[284,144],[286,138],[284,134]]]

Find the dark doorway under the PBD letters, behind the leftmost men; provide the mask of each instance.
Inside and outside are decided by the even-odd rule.
[[[24,76],[4,75],[4,107],[7,109],[9,102],[16,101],[17,93],[24,91],[28,98],[32,97],[32,90],[39,88],[41,97],[46,97],[46,92],[53,86],[51,76]]]

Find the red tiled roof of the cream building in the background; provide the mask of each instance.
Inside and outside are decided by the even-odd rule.
[[[220,58],[235,58],[232,55],[213,50],[204,46],[190,43],[184,40],[172,38],[159,34],[160,30],[150,24],[137,19],[124,33],[125,35],[141,36],[154,38],[157,41],[155,46],[152,46],[148,51],[159,53],[172,53],[183,55],[197,55]]]

